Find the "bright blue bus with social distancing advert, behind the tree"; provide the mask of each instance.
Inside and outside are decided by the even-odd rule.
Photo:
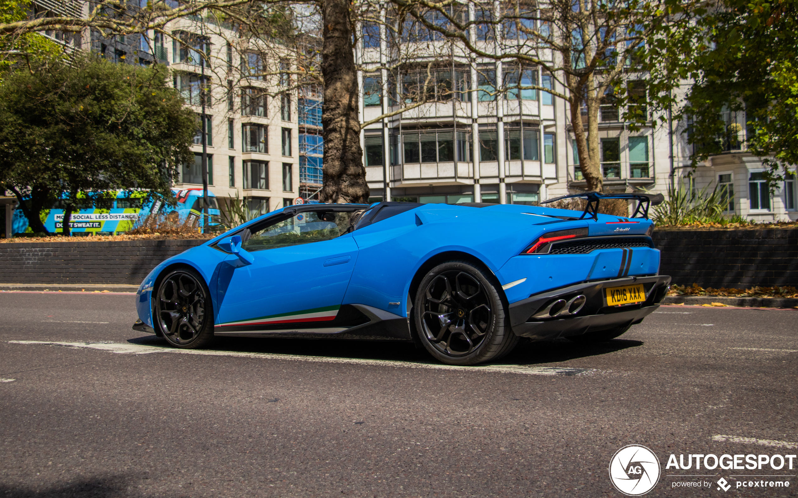
[[[175,225],[188,223],[194,225],[202,218],[203,190],[172,189],[177,198],[177,206],[168,206],[163,199],[156,198],[144,202],[146,190],[119,190],[110,209],[94,207],[91,198],[86,198],[80,210],[73,211],[69,217],[69,229],[74,233],[93,232],[95,235],[117,235],[128,232],[143,222],[150,214],[164,216]],[[208,190],[208,214],[211,225],[219,224],[219,203],[216,196]],[[64,202],[57,200],[47,210],[41,211],[41,221],[49,233],[64,231]],[[22,210],[14,210],[13,233],[30,233],[28,218]]]

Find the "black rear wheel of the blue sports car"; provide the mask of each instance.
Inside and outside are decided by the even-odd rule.
[[[466,261],[448,261],[421,280],[413,316],[424,347],[449,365],[499,359],[518,343],[496,279]]]

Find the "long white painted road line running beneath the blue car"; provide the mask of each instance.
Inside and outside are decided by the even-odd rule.
[[[492,372],[500,374],[527,374],[527,375],[579,375],[595,372],[592,368],[575,367],[530,367],[527,365],[477,365],[474,367],[458,367],[442,363],[414,363],[386,359],[354,359],[354,358],[326,358],[322,356],[280,355],[276,353],[249,353],[243,351],[211,351],[202,349],[176,349],[162,346],[146,346],[133,343],[61,343],[56,341],[9,341],[12,344],[45,344],[50,346],[65,346],[74,348],[97,349],[113,353],[128,355],[148,355],[151,353],[174,353],[178,355],[207,355],[207,356],[235,356],[239,358],[282,359],[290,361],[316,362],[316,363],[348,363],[350,365],[368,365],[373,367],[405,367],[429,368],[433,370],[455,370],[472,372]]]

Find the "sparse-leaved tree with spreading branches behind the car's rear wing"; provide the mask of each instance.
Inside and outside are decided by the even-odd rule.
[[[687,22],[683,14],[693,5],[665,0],[391,0],[391,4],[400,23],[410,18],[432,33],[425,35],[425,48],[415,49],[416,57],[448,40],[455,52],[471,57],[472,64],[493,63],[498,68],[503,62],[516,62],[522,68],[542,69],[556,84],[523,82],[516,76],[491,81],[485,88],[477,84],[480,88],[472,91],[500,95],[536,90],[566,101],[587,187],[599,191],[602,108],[615,109],[631,127],[639,127],[652,121],[654,108],[672,101],[670,89],[678,79],[658,71],[662,57],[658,40]],[[371,9],[376,8],[375,2]]]

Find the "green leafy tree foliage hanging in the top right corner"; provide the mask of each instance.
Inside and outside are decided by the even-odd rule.
[[[726,0],[697,26],[692,57],[681,61],[695,78],[684,109],[693,164],[747,149],[773,188],[798,164],[798,2]]]

